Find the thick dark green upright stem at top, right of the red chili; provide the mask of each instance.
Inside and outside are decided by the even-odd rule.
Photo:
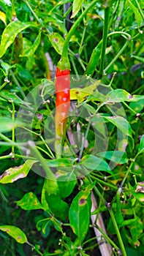
[[[104,65],[105,65],[105,50],[107,47],[107,34],[108,34],[108,23],[110,16],[110,7],[105,8],[105,20],[103,26],[103,36],[102,36],[102,50],[101,50],[101,61],[99,68],[99,77],[102,78],[104,73]]]

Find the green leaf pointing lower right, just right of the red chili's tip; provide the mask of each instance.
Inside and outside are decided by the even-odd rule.
[[[107,162],[102,160],[100,157],[95,157],[92,154],[87,154],[84,156],[80,161],[80,165],[84,165],[87,169],[90,170],[104,170],[105,172],[113,175],[113,172],[110,170]]]

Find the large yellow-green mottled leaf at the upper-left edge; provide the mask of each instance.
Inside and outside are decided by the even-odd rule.
[[[30,23],[23,23],[19,20],[12,21],[7,25],[4,29],[3,34],[1,36],[1,45],[0,45],[0,58],[6,53],[7,48],[14,42],[15,37],[23,31],[31,26]]]

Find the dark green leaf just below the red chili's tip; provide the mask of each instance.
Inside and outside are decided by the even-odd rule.
[[[68,197],[76,184],[76,176],[75,173],[68,173],[67,176],[59,176],[57,178],[59,195],[61,198]]]

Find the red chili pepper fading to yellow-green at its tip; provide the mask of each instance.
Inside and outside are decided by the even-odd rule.
[[[69,69],[56,69],[56,114],[55,114],[55,129],[56,129],[56,154],[61,154],[59,151],[61,145],[58,145],[64,139],[67,125],[67,115],[70,105],[70,71]],[[58,149],[59,148],[59,149]],[[57,157],[61,157],[58,156]]]

